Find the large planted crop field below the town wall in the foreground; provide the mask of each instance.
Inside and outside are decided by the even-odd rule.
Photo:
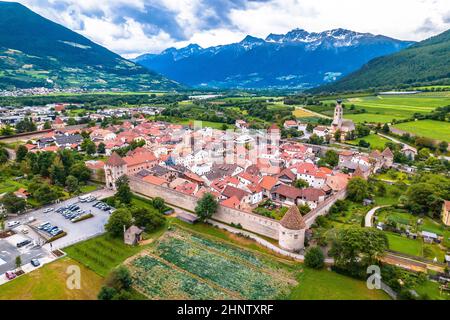
[[[129,262],[136,289],[151,299],[276,299],[295,275],[230,244],[173,229]]]

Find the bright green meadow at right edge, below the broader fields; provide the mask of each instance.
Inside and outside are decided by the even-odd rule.
[[[414,122],[399,123],[394,127],[403,131],[410,132],[417,136],[450,142],[450,122],[420,120]]]

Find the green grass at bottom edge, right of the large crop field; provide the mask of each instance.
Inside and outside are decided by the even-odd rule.
[[[367,289],[364,281],[328,270],[304,268],[299,285],[291,292],[292,300],[390,300],[381,290]]]

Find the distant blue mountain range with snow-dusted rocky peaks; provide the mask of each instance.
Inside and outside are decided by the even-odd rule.
[[[133,61],[192,87],[302,89],[335,81],[371,59],[413,44],[345,29],[294,29],[209,48],[169,48]]]

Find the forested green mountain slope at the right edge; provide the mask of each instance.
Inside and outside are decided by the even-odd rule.
[[[450,84],[450,30],[392,55],[374,59],[315,92],[392,89]]]

